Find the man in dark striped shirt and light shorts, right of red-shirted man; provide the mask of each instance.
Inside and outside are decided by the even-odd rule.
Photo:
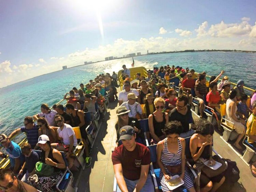
[[[199,83],[196,84],[195,91],[196,91],[197,99],[199,100],[200,117],[203,117],[204,98],[207,95],[207,88],[205,85],[205,82],[206,82],[205,75],[200,75],[198,80],[199,80]]]

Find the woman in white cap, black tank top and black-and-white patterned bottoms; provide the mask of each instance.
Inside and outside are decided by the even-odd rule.
[[[42,149],[41,161],[54,167],[54,174],[49,177],[39,177],[34,174],[28,178],[28,184],[40,191],[55,192],[56,185],[61,178],[62,171],[66,167],[61,153],[57,149],[52,149],[49,137],[41,135],[37,145]]]

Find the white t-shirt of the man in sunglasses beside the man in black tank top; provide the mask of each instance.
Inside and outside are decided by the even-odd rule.
[[[69,124],[64,123],[63,129],[60,130],[60,128],[58,128],[57,132],[59,134],[59,137],[61,137],[63,139],[63,143],[65,145],[70,144],[69,137],[73,135],[73,139],[74,139],[73,146],[77,146],[77,139],[76,139],[76,136],[75,136],[75,132]]]

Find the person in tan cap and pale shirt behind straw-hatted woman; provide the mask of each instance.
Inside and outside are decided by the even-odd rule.
[[[139,114],[140,119],[144,119],[141,105],[138,102],[136,102],[137,98],[138,97],[136,97],[134,93],[129,93],[127,95],[128,101],[122,103],[120,107],[125,106],[127,110],[130,110],[128,114],[129,117],[137,118],[137,114]]]

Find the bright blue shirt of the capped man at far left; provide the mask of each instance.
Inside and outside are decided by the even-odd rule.
[[[5,150],[9,155],[11,167],[14,167],[14,165],[15,165],[15,158],[19,158],[20,159],[20,165],[23,165],[24,155],[22,154],[21,149],[20,149],[18,144],[11,141],[9,147],[5,148]]]

